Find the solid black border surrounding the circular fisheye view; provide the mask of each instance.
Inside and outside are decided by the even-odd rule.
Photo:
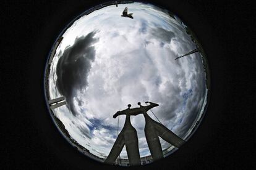
[[[202,123],[182,148],[139,168],[255,168],[252,2],[149,2],[173,11],[197,34],[211,69],[211,100]],[[43,95],[46,56],[54,40],[70,20],[99,3],[2,2],[2,168],[120,169],[74,150],[51,120]]]

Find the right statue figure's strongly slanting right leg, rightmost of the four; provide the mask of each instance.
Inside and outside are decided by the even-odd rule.
[[[174,134],[174,132],[170,131],[167,127],[163,126],[163,124],[155,122],[155,129],[158,132],[158,136],[160,136],[169,144],[174,145],[174,147],[181,147],[186,141],[181,139],[181,137]]]

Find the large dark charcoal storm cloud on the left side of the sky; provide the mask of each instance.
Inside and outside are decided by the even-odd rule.
[[[95,31],[75,39],[74,45],[67,47],[60,57],[56,74],[58,76],[56,86],[64,95],[67,107],[75,115],[72,98],[77,89],[87,86],[87,75],[91,63],[95,59],[95,47],[92,44],[98,39],[93,38]]]

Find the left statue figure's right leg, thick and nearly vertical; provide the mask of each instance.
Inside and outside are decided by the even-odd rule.
[[[126,152],[131,166],[140,165],[140,152],[137,131],[127,131],[124,134]]]

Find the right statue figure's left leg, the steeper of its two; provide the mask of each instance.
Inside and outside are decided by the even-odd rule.
[[[145,136],[153,161],[163,158],[163,151],[160,140],[153,124],[146,124]]]

